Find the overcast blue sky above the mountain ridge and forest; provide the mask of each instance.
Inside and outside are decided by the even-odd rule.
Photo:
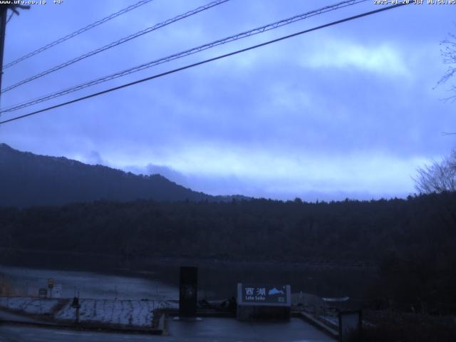
[[[339,0],[341,1],[341,0]],[[230,0],[1,95],[1,107],[339,1]],[[4,64],[137,0],[32,5],[6,27]],[[2,88],[207,4],[154,0],[6,68]],[[426,2],[426,1],[425,1]],[[1,120],[379,9],[372,1],[4,113]],[[406,197],[455,147],[440,42],[456,5],[402,6],[0,125],[0,142],[211,195],[306,201]]]

